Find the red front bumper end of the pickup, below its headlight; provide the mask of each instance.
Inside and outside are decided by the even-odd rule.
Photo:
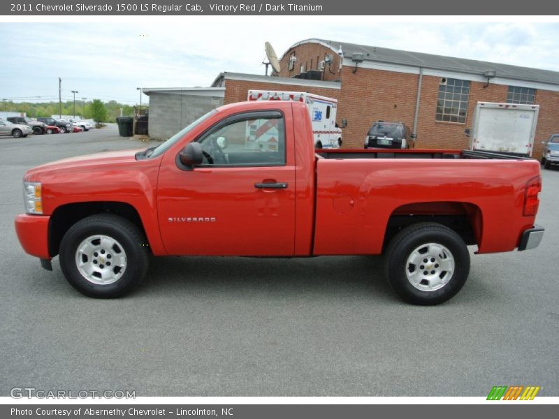
[[[19,214],[15,217],[15,233],[23,250],[31,256],[50,259],[48,251],[48,223],[50,216]]]

